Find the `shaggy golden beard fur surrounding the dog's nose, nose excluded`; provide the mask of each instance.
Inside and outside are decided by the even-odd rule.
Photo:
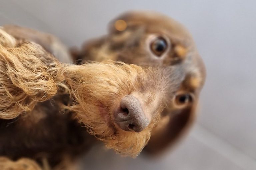
[[[151,129],[158,120],[159,114],[155,115],[146,129],[136,133],[116,127],[111,113],[114,112],[122,96],[139,88],[138,78],[146,77],[145,70],[124,63],[113,65],[112,62],[105,62],[104,65],[86,64],[86,66],[93,72],[85,70],[83,65],[64,69],[64,75],[70,75],[65,81],[74,100],[68,109],[74,111],[77,118],[87,125],[89,133],[102,140],[108,148],[115,148],[123,155],[136,156],[148,142]],[[97,90],[95,90],[96,86]]]

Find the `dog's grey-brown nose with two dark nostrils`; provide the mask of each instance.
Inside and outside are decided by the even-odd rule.
[[[115,122],[125,131],[140,132],[149,125],[139,100],[127,95],[120,102],[120,109],[115,114]]]

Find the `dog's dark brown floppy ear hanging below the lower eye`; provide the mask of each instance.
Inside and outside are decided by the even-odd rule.
[[[194,123],[196,106],[197,101],[183,108],[178,114],[162,117],[160,124],[153,129],[151,138],[144,149],[145,152],[157,155],[177,143]]]

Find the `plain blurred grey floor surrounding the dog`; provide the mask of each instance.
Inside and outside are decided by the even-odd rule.
[[[191,31],[207,67],[197,123],[174,150],[158,159],[121,158],[94,148],[83,169],[255,170],[256,2],[251,0],[0,0],[0,25],[52,33],[80,46],[106,33],[113,17],[150,9]]]

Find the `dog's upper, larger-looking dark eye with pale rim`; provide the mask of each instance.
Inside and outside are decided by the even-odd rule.
[[[150,44],[151,51],[158,57],[160,57],[167,49],[167,42],[162,37],[157,37]]]

